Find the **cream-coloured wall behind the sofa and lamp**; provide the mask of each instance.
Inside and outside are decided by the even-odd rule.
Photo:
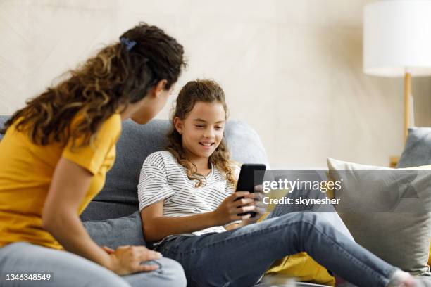
[[[327,156],[387,165],[403,148],[403,80],[363,75],[368,2],[1,0],[0,114],[144,20],[185,46],[177,89],[220,82],[231,118],[258,131],[273,167],[324,166]],[[416,124],[431,125],[430,79],[414,79],[413,92]]]

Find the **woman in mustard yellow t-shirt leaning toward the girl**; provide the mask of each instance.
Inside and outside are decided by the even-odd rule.
[[[185,286],[177,262],[143,246],[100,248],[79,217],[104,186],[121,121],[144,124],[163,108],[185,65],[183,53],[163,30],[141,23],[6,122],[1,286],[43,284],[11,281],[30,272],[50,272],[46,286]],[[125,276],[137,272],[145,273]]]

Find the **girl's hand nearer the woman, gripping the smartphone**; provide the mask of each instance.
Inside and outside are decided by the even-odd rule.
[[[243,212],[255,212],[255,205],[249,205],[254,202],[253,198],[246,198],[249,196],[249,191],[237,191],[231,196],[223,200],[216,210],[212,212],[213,219],[216,225],[225,225],[235,220],[244,220],[250,217],[249,214],[239,216]],[[244,197],[244,198],[242,198]],[[242,198],[238,199],[237,198]],[[246,206],[247,205],[247,206]]]

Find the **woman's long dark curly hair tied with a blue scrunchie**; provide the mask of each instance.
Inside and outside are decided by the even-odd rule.
[[[15,125],[27,132],[35,144],[46,146],[56,141],[65,145],[77,139],[80,146],[91,144],[94,135],[113,113],[136,103],[161,79],[165,89],[177,82],[185,66],[181,44],[156,26],[139,23],[121,38],[135,42],[132,48],[116,42],[101,49],[68,78],[49,87],[5,123],[1,134]],[[82,117],[71,128],[77,113]]]

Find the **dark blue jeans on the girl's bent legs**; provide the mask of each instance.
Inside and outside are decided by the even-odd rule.
[[[289,212],[279,205],[263,222],[220,234],[180,236],[156,249],[182,264],[187,286],[250,287],[275,260],[300,252],[357,286],[387,286],[397,268],[355,243],[325,215],[337,216]]]

